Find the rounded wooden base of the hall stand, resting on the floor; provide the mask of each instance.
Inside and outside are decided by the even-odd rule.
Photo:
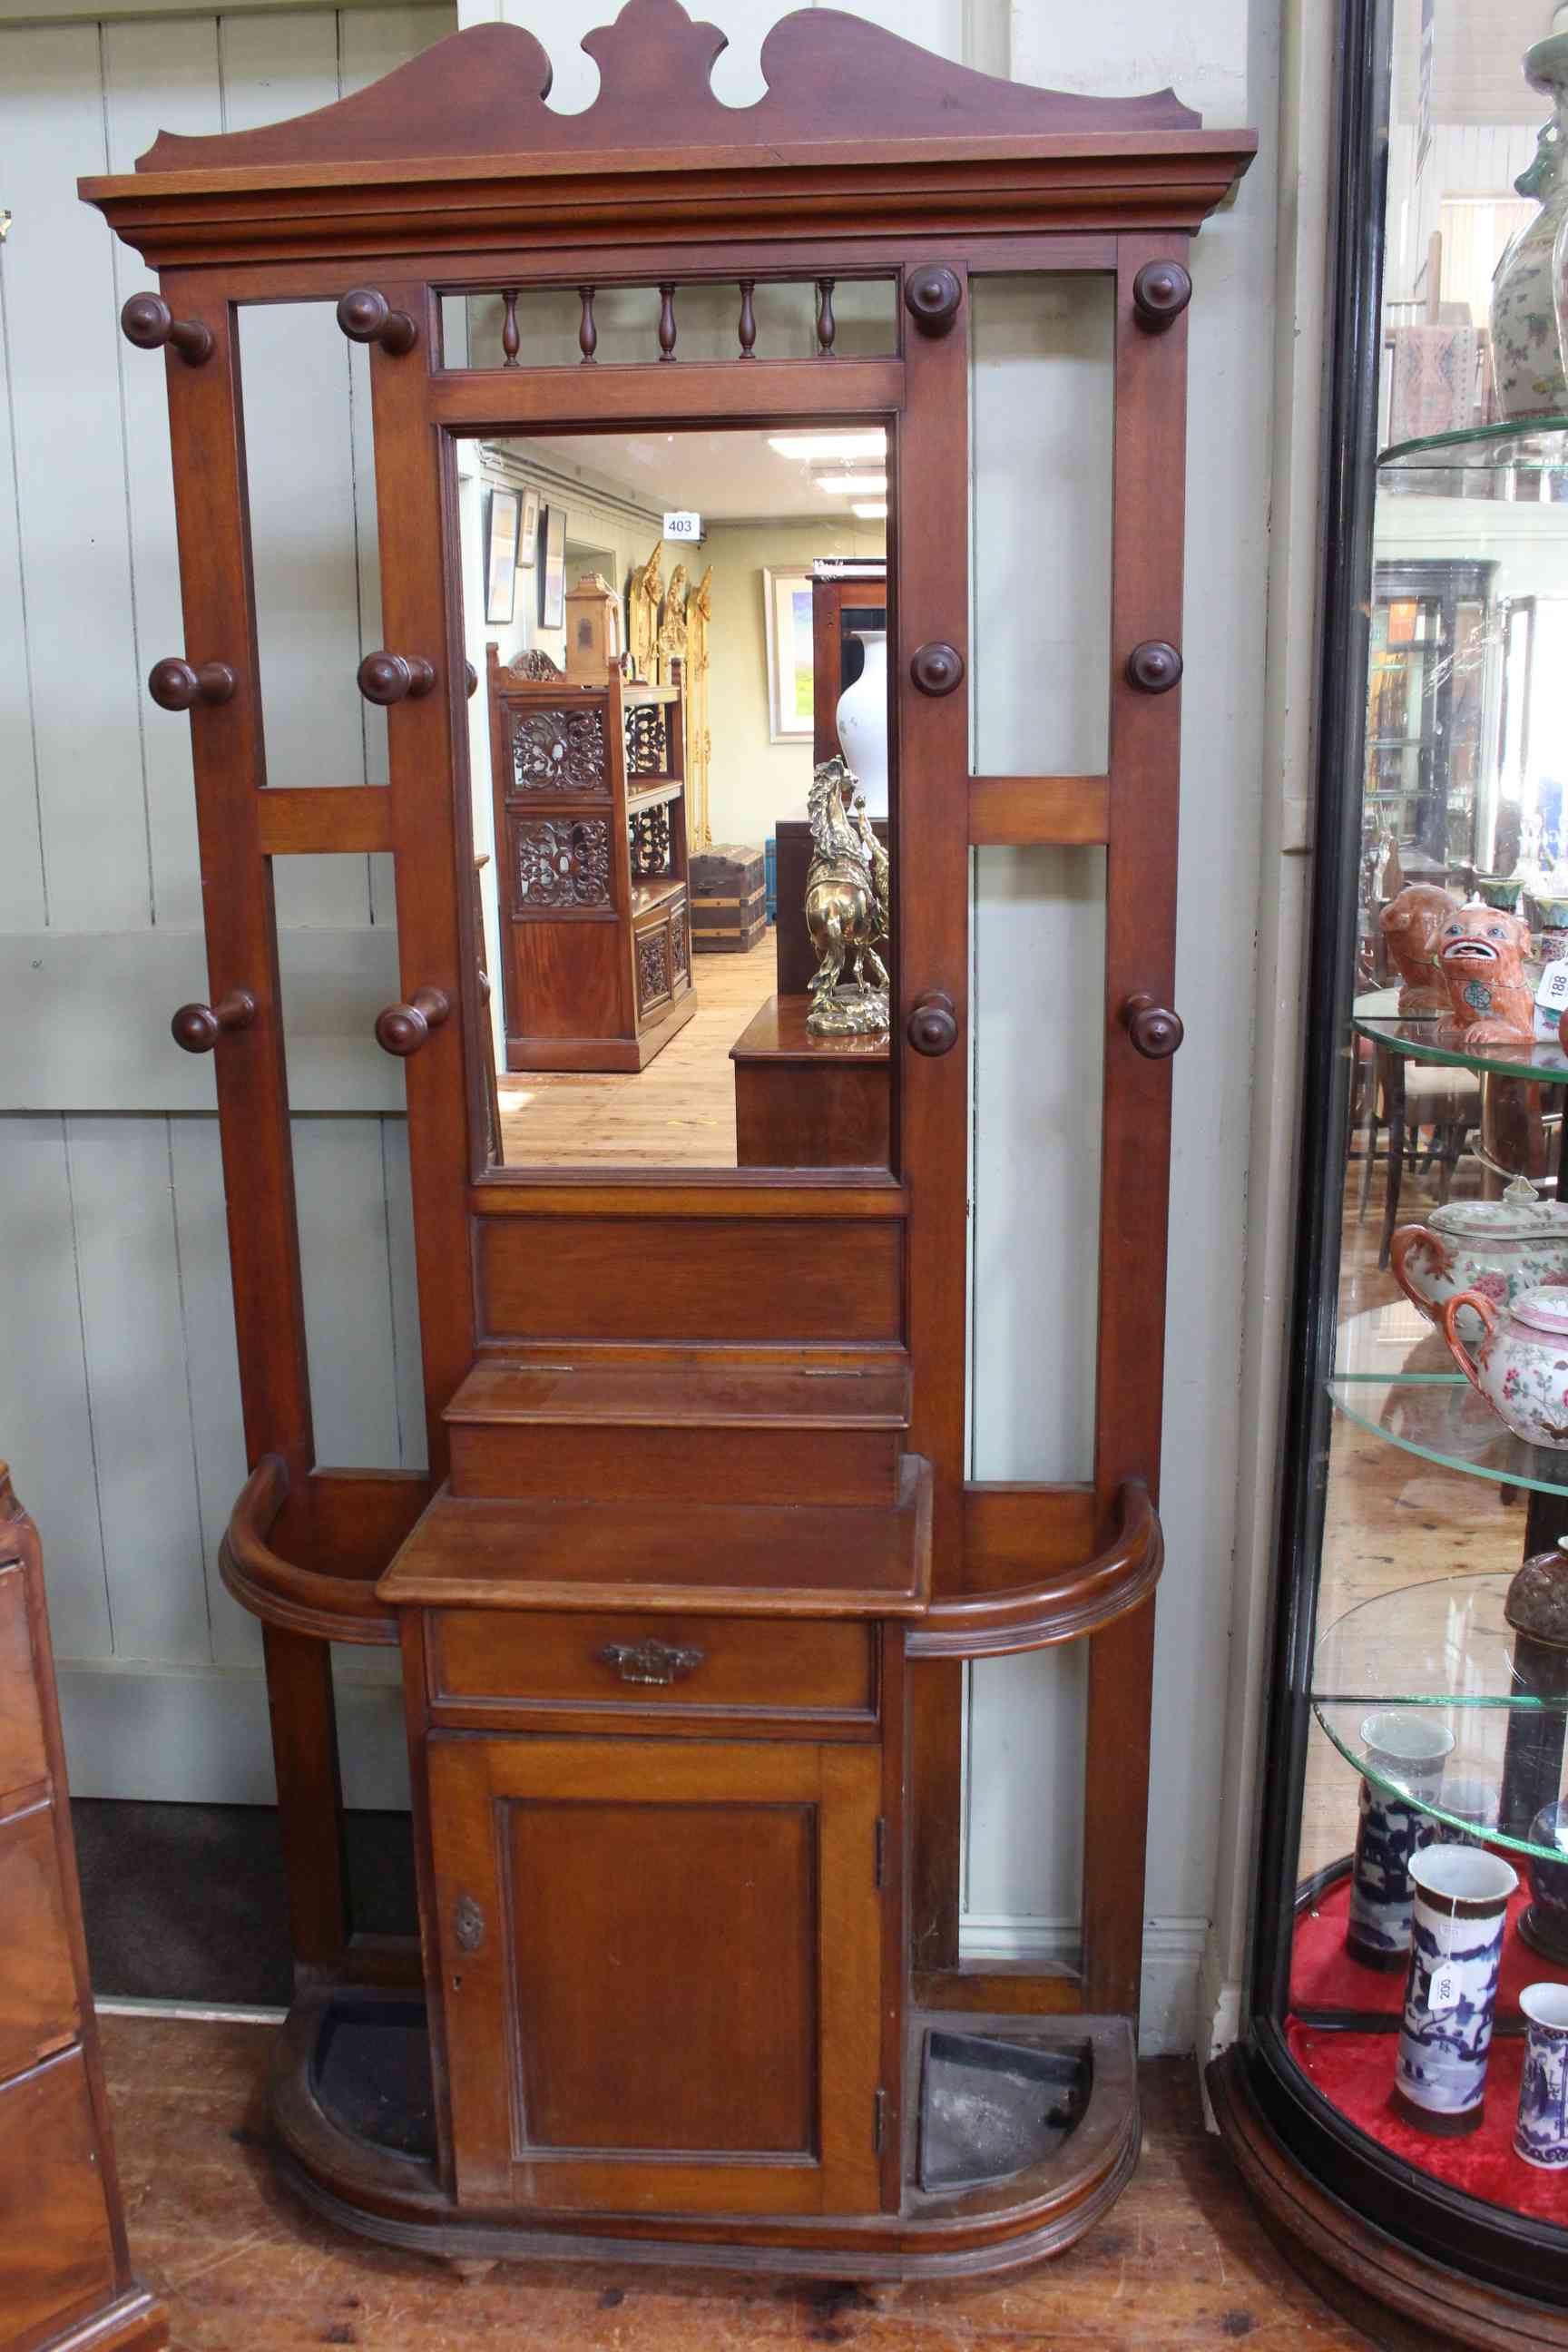
[[[275,2161],[289,2187],[322,2218],[383,2246],[456,2263],[595,2258],[614,2263],[696,2265],[816,2279],[971,2279],[1023,2270],[1072,2246],[1126,2187],[1138,2161],[1138,2070],[1126,2018],[961,2016],[922,2011],[907,2020],[907,2112],[917,2112],[926,2030],[954,2023],[964,2037],[1058,2039],[1081,2046],[1088,2098],[1065,2143],[1006,2183],[959,2192],[919,2187],[919,2133],[905,2140],[905,2183],[896,2213],[849,2216],[644,2216],[644,2213],[475,2213],[444,2187],[433,2152],[433,2117],[423,2105],[421,2067],[404,1997],[350,1992],[306,1994],[280,2037],[270,2082]],[[353,2020],[383,2037],[383,2082],[402,2072],[407,2112],[381,2103],[378,2136],[355,2129],[353,2086],[339,2070],[334,2034]],[[378,2025],[376,2018],[386,2018]],[[409,2037],[404,2060],[390,2039]],[[425,2070],[428,2074],[428,2060]],[[336,2112],[334,2112],[336,2107]]]

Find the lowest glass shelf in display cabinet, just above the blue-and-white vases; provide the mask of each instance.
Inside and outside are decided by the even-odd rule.
[[[1540,1696],[1514,1665],[1514,1628],[1502,1616],[1507,1588],[1507,1576],[1439,1576],[1356,1602],[1316,1646],[1312,1712],[1373,1788],[1458,1835],[1481,1830],[1488,1846],[1568,1870],[1566,1846],[1495,1825],[1509,1722],[1556,1717],[1568,1729],[1568,1696]],[[1368,1759],[1363,1724],[1392,1708],[1436,1715],[1453,1733],[1436,1788],[1406,1783],[1387,1757]]]

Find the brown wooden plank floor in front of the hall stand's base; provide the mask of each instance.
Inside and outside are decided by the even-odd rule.
[[[1366,2352],[1262,2234],[1199,2122],[1192,2063],[1143,2070],[1145,2152],[1058,2263],[992,2286],[863,2293],[675,2270],[503,2265],[463,2286],[428,2256],[317,2220],[266,2157],[273,2027],[103,2018],[132,2258],[176,2352]]]

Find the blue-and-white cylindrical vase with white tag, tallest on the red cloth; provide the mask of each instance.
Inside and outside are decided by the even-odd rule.
[[[1415,1919],[1399,2023],[1394,2107],[1420,2131],[1476,2131],[1486,2105],[1502,1929],[1519,1877],[1483,1846],[1410,1858]]]

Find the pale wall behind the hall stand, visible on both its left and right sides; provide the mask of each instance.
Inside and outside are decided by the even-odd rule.
[[[120,301],[143,280],[78,205],[73,181],[125,169],[158,127],[240,127],[320,106],[440,38],[451,16],[348,7],[273,19],[256,7],[5,26],[5,5],[0,202],[14,228],[0,249],[0,607],[12,656],[0,670],[0,1451],[45,1534],[75,1785],[256,1802],[270,1795],[256,1630],[214,1566],[244,1461],[212,1070],[165,1047],[172,1007],[207,990],[188,729],[143,694],[150,661],[181,649],[162,362],[115,332]],[[1192,2042],[1225,1743],[1267,804],[1281,7],[858,0],[860,14],[987,71],[1103,92],[1173,82],[1208,122],[1262,132],[1239,202],[1194,247],[1178,943],[1187,1044],[1175,1063],[1168,1569],[1150,1837],[1154,2049]],[[592,96],[595,68],[571,35],[609,5],[461,0],[458,14],[529,24],[555,59],[550,103],[574,111]],[[731,35],[715,87],[750,101],[762,35],[783,7],[712,0],[701,14]],[[1072,680],[1105,659],[1103,515],[1095,524],[1088,496],[1107,421],[1105,322],[1070,301],[1044,320],[1039,306],[1030,313],[1016,299],[1011,320],[999,315],[997,369],[976,383],[976,739],[990,731],[994,753],[980,764],[992,769],[1072,769],[1093,764],[1072,748]],[[1056,350],[1056,376],[1041,348]],[[292,680],[282,708],[268,696],[273,779],[374,779],[383,736],[353,689],[362,647],[378,642],[360,355],[327,310],[315,322],[247,322],[244,362],[268,388],[261,412],[256,393],[247,400],[266,517],[263,670],[287,666]],[[1032,433],[1053,416],[1058,435],[1039,440],[1034,459],[1016,452],[1016,468],[1034,466],[1025,480],[1037,499],[1018,543],[1009,414]],[[966,593],[954,576],[954,597]],[[395,969],[390,891],[374,861],[308,863],[313,873],[284,880],[280,906],[320,1451],[414,1463],[400,1080],[364,1049]],[[976,861],[971,1399],[983,1477],[1088,1468],[1100,894],[1095,851]],[[1117,1247],[1114,1232],[1105,1247]],[[1060,1653],[973,1672],[971,1950],[1060,1952],[1074,1940],[1079,1668]],[[348,1672],[350,1802],[388,1802],[400,1776],[390,1691],[362,1679],[360,1661]]]

